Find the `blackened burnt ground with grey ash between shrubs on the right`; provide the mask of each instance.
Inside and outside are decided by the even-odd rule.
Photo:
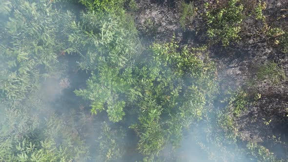
[[[189,1],[189,0],[187,0]],[[193,1],[193,0],[190,0]],[[201,17],[204,2],[214,0],[195,0],[199,8],[194,20],[182,29],[179,24],[180,0],[137,0],[136,24],[143,41],[168,41],[173,35],[188,46],[206,43],[205,22]],[[267,8],[263,11],[267,24],[287,29],[288,1],[263,0]],[[247,6],[256,1],[247,1]],[[204,8],[202,6],[202,8]],[[283,17],[282,15],[286,15]],[[281,19],[279,19],[282,17]],[[260,142],[277,156],[288,154],[288,81],[272,84],[269,78],[257,81],[257,68],[267,62],[276,62],[288,76],[288,54],[279,50],[273,40],[259,34],[263,29],[261,20],[247,17],[242,24],[242,40],[228,47],[213,44],[209,47],[210,59],[216,62],[218,77],[232,88],[242,87],[250,94],[261,94],[261,98],[247,106],[247,111],[235,119],[239,133],[244,141]],[[197,34],[196,34],[197,33]],[[250,82],[254,82],[253,86]],[[265,121],[269,121],[266,124]],[[280,138],[280,139],[279,139]],[[277,141],[278,140],[278,141]],[[279,151],[281,150],[281,151]]]

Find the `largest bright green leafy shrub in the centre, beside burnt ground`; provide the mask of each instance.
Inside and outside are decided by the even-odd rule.
[[[213,63],[198,58],[204,51],[179,49],[174,40],[155,43],[141,61],[121,72],[105,66],[90,77],[86,89],[75,92],[91,101],[92,112],[105,110],[113,122],[125,114],[138,116],[130,126],[139,137],[138,150],[155,156],[169,141],[174,148],[180,145],[183,129],[202,120],[216,92]]]

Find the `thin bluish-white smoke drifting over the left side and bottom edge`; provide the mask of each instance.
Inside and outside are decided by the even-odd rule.
[[[50,2],[52,3],[52,1]],[[67,39],[72,39],[72,36],[67,38],[66,31],[64,31],[66,27],[63,27],[62,23],[72,23],[72,21],[62,22],[62,19],[60,19],[54,22],[56,26],[63,29],[63,31],[58,32],[58,34],[63,32],[62,35],[51,39],[55,41],[57,38],[62,38],[55,41],[56,43],[39,41],[38,44],[34,42],[33,44],[30,41],[33,41],[34,37],[37,36],[30,35],[29,32],[47,30],[50,33],[57,29],[41,29],[43,24],[35,25],[39,27],[38,29],[29,26],[29,24],[28,27],[31,28],[21,28],[21,25],[27,24],[21,24],[20,22],[13,22],[14,24],[12,24],[12,19],[8,20],[7,18],[15,15],[17,17],[17,14],[23,18],[26,18],[25,14],[28,15],[27,17],[31,16],[28,14],[29,12],[24,13],[22,11],[24,9],[33,9],[31,13],[34,14],[33,16],[38,15],[38,19],[46,19],[45,17],[49,17],[47,13],[50,12],[39,11],[41,9],[37,8],[37,2],[30,3],[30,1],[25,0],[15,0],[13,2],[15,3],[0,0],[0,4],[3,4],[0,6],[0,27],[2,28],[0,30],[0,161],[32,161],[33,158],[34,160],[45,161],[47,160],[44,159],[45,156],[48,156],[48,159],[51,158],[52,160],[49,159],[51,161],[59,161],[63,157],[66,158],[64,161],[79,162],[108,161],[109,159],[115,162],[141,161],[144,156],[137,150],[139,137],[134,130],[128,128],[131,124],[136,123],[139,118],[133,116],[133,111],[138,111],[132,109],[134,105],[131,106],[132,108],[129,107],[129,110],[125,110],[126,115],[123,121],[113,123],[109,121],[105,111],[92,115],[90,101],[85,101],[74,93],[75,90],[86,88],[86,81],[91,77],[91,71],[80,68],[78,62],[83,61],[83,57],[82,54],[76,54],[79,52],[75,50],[76,47],[75,49],[70,47],[68,50],[59,47],[63,44],[71,45],[67,43]],[[50,5],[50,2],[47,3],[44,0],[41,2]],[[15,7],[20,4],[21,7]],[[18,11],[12,6],[22,10]],[[79,14],[84,9],[78,3],[77,5],[70,4],[70,1],[57,5],[57,7],[53,3],[52,6],[52,9],[47,7],[47,10],[51,9],[55,12],[57,10],[60,15],[55,15],[56,17],[61,17],[61,14],[64,15],[69,10],[73,14],[71,14],[72,16],[67,14],[65,18],[75,21],[79,19]],[[10,8],[13,8],[13,10]],[[9,25],[16,26],[12,34],[11,31],[9,31],[10,33],[7,32]],[[18,31],[19,29],[21,31]],[[25,33],[26,29],[29,29],[28,34]],[[27,35],[22,36],[22,33]],[[41,35],[41,38],[47,39],[50,37],[46,34],[48,35],[46,38],[45,34]],[[16,39],[18,35],[22,37]],[[31,40],[26,38],[28,36],[32,37]],[[77,38],[75,40],[79,41]],[[53,43],[55,46],[49,47]],[[78,44],[73,45],[77,46]],[[34,49],[33,46],[37,46],[39,49]],[[41,49],[47,46],[52,50],[45,51]],[[93,49],[95,47],[87,48]],[[40,54],[37,53],[37,50],[40,51]],[[50,55],[53,52],[54,54]],[[41,54],[43,56],[39,57]],[[48,62],[45,60],[46,55],[52,56],[52,59],[47,59]],[[130,59],[134,60],[133,63],[135,63],[141,62],[144,57],[151,56],[143,54],[139,58]],[[34,61],[42,63],[36,63],[32,67]],[[54,71],[46,76],[45,70],[50,68],[50,63],[53,66],[56,64],[56,68],[51,67]],[[156,64],[156,62],[153,63]],[[42,68],[43,65],[46,65],[46,69]],[[26,68],[31,68],[31,70],[26,70]],[[172,73],[172,70],[162,68],[167,71],[168,75]],[[45,77],[41,77],[43,75]],[[38,76],[39,78],[35,79],[31,76]],[[100,76],[96,77],[100,78]],[[177,76],[171,76],[171,78],[177,78]],[[176,84],[177,81],[174,81],[173,84]],[[226,89],[220,90],[226,91]],[[221,95],[223,94],[221,93]],[[195,120],[187,130],[183,129],[184,136],[179,148],[175,149],[171,143],[165,143],[164,149],[160,151],[157,158],[166,162],[257,161],[258,159],[254,155],[256,153],[247,151],[247,141],[242,141],[239,136],[232,136],[231,134],[234,132],[227,133],[231,131],[230,129],[236,129],[231,125],[232,121],[230,123],[219,123],[219,118],[226,117],[225,114],[223,116],[219,114],[226,111],[226,105],[228,104],[228,101],[226,101],[221,105],[217,105],[216,101],[212,101],[220,98],[225,98],[225,96],[208,99],[214,105],[205,107],[206,112],[203,114],[203,119],[201,121]],[[231,116],[231,114],[229,115]],[[229,117],[226,118],[230,119]],[[226,128],[227,130],[224,130]],[[280,140],[278,142],[283,144]],[[277,145],[275,152],[285,156],[287,153],[285,149],[287,148],[281,146]],[[255,152],[256,150],[257,152],[261,151],[262,147],[255,146],[253,149],[252,151]],[[265,152],[265,149],[263,150]],[[119,158],[119,154],[123,156]],[[72,159],[69,159],[71,158],[69,156]],[[30,157],[31,159],[29,159]]]

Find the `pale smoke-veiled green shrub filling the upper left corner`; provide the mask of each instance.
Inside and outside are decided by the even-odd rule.
[[[0,29],[0,97],[13,103],[37,90],[41,79],[60,75],[57,57],[68,52],[63,31],[74,17],[45,0],[0,2],[2,13],[10,12]]]

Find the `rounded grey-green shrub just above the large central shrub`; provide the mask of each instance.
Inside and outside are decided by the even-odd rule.
[[[73,32],[68,41],[82,55],[79,62],[82,69],[97,70],[102,66],[119,69],[135,57],[139,38],[131,16],[88,12],[82,13],[80,20],[70,23]]]

